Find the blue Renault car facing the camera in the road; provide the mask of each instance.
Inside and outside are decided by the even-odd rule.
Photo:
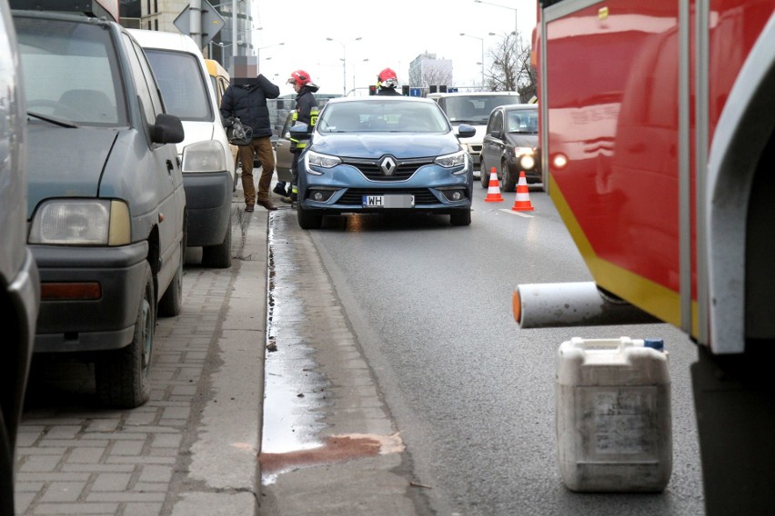
[[[294,139],[306,126],[293,127]],[[432,100],[404,96],[328,101],[298,160],[298,224],[317,229],[342,213],[448,214],[471,223],[473,164]]]

